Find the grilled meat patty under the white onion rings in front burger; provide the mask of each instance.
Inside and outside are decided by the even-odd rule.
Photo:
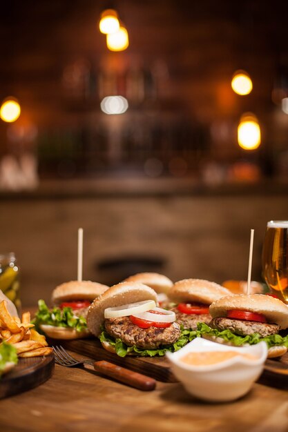
[[[176,342],[181,334],[180,325],[173,322],[167,328],[140,328],[133,324],[129,317],[105,320],[105,328],[109,335],[121,339],[128,346],[136,345],[142,349],[156,349],[162,345]]]

